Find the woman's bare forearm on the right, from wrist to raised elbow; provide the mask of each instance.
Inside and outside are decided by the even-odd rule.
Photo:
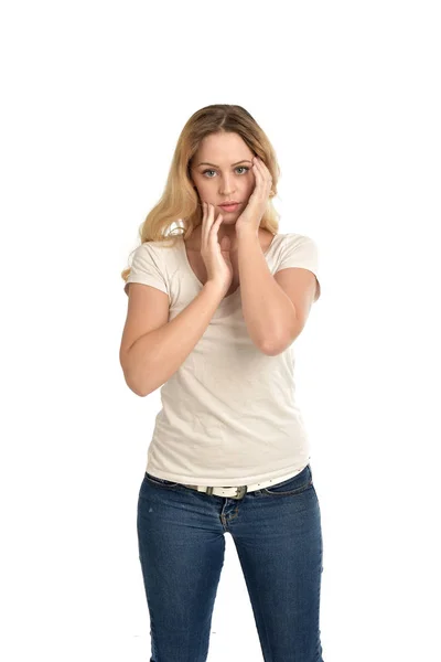
[[[271,352],[295,325],[295,309],[269,270],[258,235],[245,232],[237,239],[244,319],[255,345]]]

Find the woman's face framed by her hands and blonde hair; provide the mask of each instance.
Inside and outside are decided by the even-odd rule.
[[[214,205],[223,225],[234,224],[247,206],[255,188],[254,152],[238,134],[212,134],[204,138],[192,159],[191,175],[202,201]],[[226,211],[219,205],[234,200],[238,206]]]

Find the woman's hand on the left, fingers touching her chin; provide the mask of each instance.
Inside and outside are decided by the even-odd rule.
[[[202,203],[202,210],[201,255],[207,271],[207,281],[216,282],[226,293],[232,285],[234,271],[229,258],[229,237],[223,237],[222,245],[217,237],[224,217],[219,214],[215,221],[214,206],[206,202]]]

